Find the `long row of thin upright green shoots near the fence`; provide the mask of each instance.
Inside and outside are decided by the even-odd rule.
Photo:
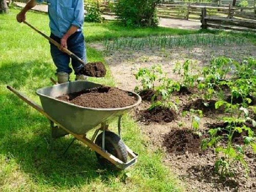
[[[111,50],[140,50],[144,48],[176,48],[192,46],[218,46],[226,44],[244,44],[245,38],[228,35],[193,34],[181,36],[148,36],[144,38],[120,38],[105,40],[106,51]]]

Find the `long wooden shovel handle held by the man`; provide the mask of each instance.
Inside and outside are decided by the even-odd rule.
[[[45,38],[47,38],[53,45],[55,45],[59,50],[61,50],[64,53],[67,53],[71,58],[76,59],[78,62],[80,62],[83,66],[86,65],[86,63],[80,59],[78,56],[76,56],[74,53],[72,53],[70,50],[68,50],[67,48],[60,48],[60,44],[55,41],[54,39],[52,39],[51,37],[48,37],[45,33],[42,33],[41,31],[39,31],[38,29],[36,29],[35,27],[33,27],[32,25],[30,25],[28,22],[26,22],[25,20],[23,21],[24,24],[26,24],[27,26],[29,26],[30,28],[34,29],[37,33],[41,34],[42,36],[44,36]]]

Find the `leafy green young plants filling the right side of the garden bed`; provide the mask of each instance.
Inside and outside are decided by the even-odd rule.
[[[136,79],[140,80],[141,87],[136,87],[135,91],[154,90],[149,111],[157,106],[178,111],[179,98],[174,93],[181,89],[196,90],[194,96],[202,97],[206,107],[208,101],[214,98],[216,110],[223,108],[224,113],[228,114],[222,115],[224,126],[213,127],[204,133],[200,130],[200,118],[203,117],[201,110],[190,109],[182,114],[190,114],[191,128],[195,134],[203,136],[201,149],[214,148],[217,154],[215,170],[220,177],[232,176],[236,163],[241,163],[248,174],[245,150],[251,146],[256,153],[256,137],[253,131],[256,127],[256,107],[253,105],[256,96],[255,67],[256,59],[253,57],[242,62],[217,57],[203,69],[197,69],[195,63],[186,60],[182,65],[177,63],[174,69],[174,73],[181,77],[177,81],[167,77],[160,65],[154,65],[138,71]],[[240,134],[244,135],[243,143],[234,143],[234,135]]]

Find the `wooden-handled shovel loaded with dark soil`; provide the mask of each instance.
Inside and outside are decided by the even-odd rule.
[[[82,59],[80,59],[77,55],[72,53],[70,50],[67,48],[60,48],[60,44],[52,39],[51,37],[48,37],[46,34],[42,33],[32,25],[30,25],[28,22],[25,20],[23,21],[24,24],[28,25],[30,28],[34,29],[37,33],[41,34],[45,38],[47,38],[53,45],[55,45],[58,49],[60,49],[62,52],[67,53],[71,58],[77,60],[81,65],[83,66],[83,70],[81,72],[84,75],[91,76],[91,77],[104,77],[106,70],[102,62],[90,62],[86,63]]]

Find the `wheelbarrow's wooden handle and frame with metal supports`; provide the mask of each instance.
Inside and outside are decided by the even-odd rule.
[[[114,155],[108,153],[107,151],[104,150],[104,133],[105,131],[109,131],[108,130],[108,125],[102,123],[101,127],[99,129],[97,129],[92,138],[89,139],[87,138],[86,134],[75,134],[72,131],[70,131],[69,129],[67,129],[67,127],[64,127],[63,125],[61,125],[58,121],[56,121],[55,119],[53,119],[49,114],[47,114],[44,109],[42,109],[42,107],[40,105],[38,105],[37,103],[35,103],[34,101],[30,100],[27,96],[25,96],[24,94],[16,91],[15,89],[13,89],[11,86],[7,86],[7,89],[9,89],[10,91],[12,91],[14,94],[16,94],[20,99],[22,99],[23,101],[25,101],[27,104],[29,104],[30,106],[32,106],[32,108],[34,108],[35,110],[37,110],[39,113],[41,113],[42,115],[46,116],[50,122],[51,122],[51,128],[52,128],[52,132],[53,129],[62,129],[63,131],[67,132],[68,134],[71,134],[72,136],[74,136],[75,139],[81,141],[82,143],[86,144],[88,147],[91,148],[91,150],[95,151],[96,153],[98,153],[99,155],[101,155],[102,157],[104,157],[106,160],[110,161],[112,164],[114,164],[116,167],[120,168],[120,169],[126,169],[130,166],[132,166],[133,164],[135,164],[137,162],[137,158],[138,155],[136,153],[134,153],[129,147],[126,147],[127,150],[127,154],[128,156],[131,158],[131,160],[129,162],[124,163],[123,161],[121,161],[120,159],[118,159],[117,157],[115,157]],[[54,127],[54,123],[56,125],[58,125],[57,127]],[[102,148],[100,146],[98,146],[97,144],[94,143],[94,140],[96,138],[96,136],[98,135],[98,132],[102,130],[103,131],[103,137],[102,137]],[[118,118],[118,133],[120,136],[120,132],[121,132],[121,116],[119,116]],[[51,136],[53,136],[51,134]]]

